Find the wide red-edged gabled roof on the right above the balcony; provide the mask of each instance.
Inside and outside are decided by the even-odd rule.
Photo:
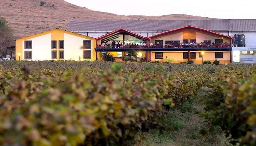
[[[157,35],[153,35],[151,37],[148,37],[148,38],[156,38],[156,37],[160,37],[162,35],[166,35],[166,34],[169,34],[171,32],[175,32],[175,31],[178,31],[178,30],[182,30],[182,29],[185,29],[185,28],[194,28],[196,30],[200,30],[200,31],[204,31],[204,32],[207,32],[207,33],[210,33],[210,34],[214,34],[214,35],[218,35],[218,36],[221,36],[223,38],[229,38],[229,39],[234,39],[234,37],[230,37],[228,35],[223,35],[223,34],[220,34],[220,33],[217,33],[217,32],[213,32],[213,31],[210,31],[210,30],[206,30],[204,28],[200,28],[200,27],[195,27],[195,26],[184,26],[184,27],[180,27],[180,28],[177,28],[177,29],[174,29],[174,30],[169,30],[169,31],[165,31],[165,32],[162,32],[160,34],[157,34]]]

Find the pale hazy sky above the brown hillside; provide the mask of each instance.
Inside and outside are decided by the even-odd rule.
[[[117,15],[187,14],[220,19],[256,19],[256,0],[65,0]]]

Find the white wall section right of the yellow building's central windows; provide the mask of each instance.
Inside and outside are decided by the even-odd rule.
[[[93,41],[91,41],[91,49],[82,49],[83,41],[89,40],[75,35],[64,33],[64,59],[65,60],[83,60],[83,51],[91,50],[91,58],[93,58]]]

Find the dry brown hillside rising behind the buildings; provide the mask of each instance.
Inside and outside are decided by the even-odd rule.
[[[182,20],[212,19],[173,14],[164,16],[123,16],[70,4],[64,0],[0,0],[0,16],[6,18],[14,29],[15,37],[25,37],[52,28],[66,28],[70,20]]]

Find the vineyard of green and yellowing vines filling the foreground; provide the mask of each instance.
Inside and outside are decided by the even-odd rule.
[[[220,127],[231,144],[256,145],[256,66],[0,65],[0,145],[128,145],[139,131],[175,130],[163,117],[194,99],[204,104],[199,114],[208,126],[200,129],[202,136]]]

